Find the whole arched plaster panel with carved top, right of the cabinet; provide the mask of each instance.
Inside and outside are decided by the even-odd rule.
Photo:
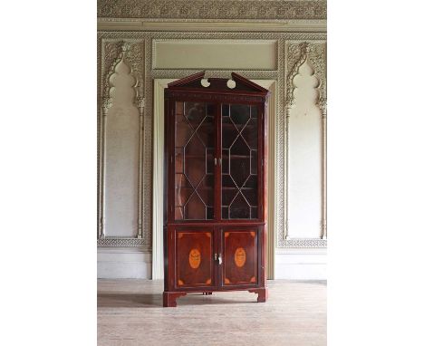
[[[287,77],[284,151],[287,158],[292,156],[293,159],[287,160],[288,165],[284,171],[284,177],[289,179],[285,190],[284,239],[302,238],[305,229],[311,230],[315,224],[321,228],[320,236],[326,239],[326,45],[325,42],[286,42],[285,51]],[[305,75],[304,82],[311,83],[312,88],[306,91],[310,93],[309,101],[304,100],[307,97],[305,93],[300,100],[295,101],[298,93],[296,91],[299,91],[296,85],[299,74]],[[306,110],[308,103],[309,108]],[[313,128],[316,130],[313,131]],[[303,167],[296,166],[296,162]],[[290,182],[290,179],[294,181]],[[308,194],[302,197],[302,191],[296,190],[296,187],[308,187]],[[302,216],[303,213],[308,217]],[[318,222],[316,220],[319,214]],[[293,225],[291,215],[294,216]],[[312,224],[316,222],[306,225],[308,220]],[[290,229],[291,225],[294,226],[293,230]]]

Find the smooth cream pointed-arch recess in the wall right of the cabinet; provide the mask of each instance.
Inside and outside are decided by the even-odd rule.
[[[294,77],[294,107],[288,128],[288,235],[314,238],[322,224],[321,111],[318,80],[306,61]]]

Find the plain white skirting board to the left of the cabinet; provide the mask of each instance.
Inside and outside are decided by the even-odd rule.
[[[98,279],[151,279],[151,254],[138,249],[98,248]]]

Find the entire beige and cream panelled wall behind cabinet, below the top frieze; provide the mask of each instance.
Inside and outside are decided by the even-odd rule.
[[[162,153],[157,121],[164,82],[159,81],[206,70],[206,77],[240,73],[275,94],[268,131],[269,221],[274,227],[268,276],[324,279],[325,29],[316,32],[315,25],[314,32],[299,31],[299,22],[289,22],[264,32],[255,31],[253,21],[249,32],[248,22],[216,20],[226,32],[201,33],[202,25],[190,21],[194,29],[189,32],[180,30],[182,22],[174,31],[143,30],[142,25],[113,31],[122,21],[100,20],[103,30],[98,32],[99,277],[160,278],[161,199],[155,195],[160,163],[155,158]],[[150,23],[159,27],[162,22]]]

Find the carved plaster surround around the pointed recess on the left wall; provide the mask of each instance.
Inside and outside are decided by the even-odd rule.
[[[144,39],[116,39],[99,42],[98,49],[98,241],[97,245],[102,247],[146,247],[150,245],[150,208],[149,208],[149,152],[150,138],[149,121],[145,114],[145,40]],[[138,179],[138,225],[137,235],[134,237],[120,237],[105,235],[104,219],[104,142],[106,124],[103,118],[107,117],[111,108],[111,75],[115,71],[116,65],[123,61],[130,67],[130,73],[135,78],[134,89],[136,95],[133,104],[139,109],[140,115],[140,142],[139,142],[139,179]],[[145,131],[144,129],[148,131]],[[147,144],[147,145],[146,145]],[[146,203],[145,203],[146,201]]]

